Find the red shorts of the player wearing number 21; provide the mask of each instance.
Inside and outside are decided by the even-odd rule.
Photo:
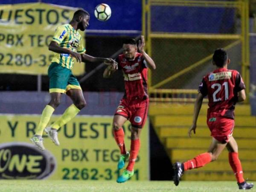
[[[207,125],[212,137],[221,143],[228,143],[233,134],[235,121],[224,116],[209,116]]]

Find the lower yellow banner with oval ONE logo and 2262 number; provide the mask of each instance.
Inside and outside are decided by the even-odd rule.
[[[51,121],[57,118],[52,116]],[[116,180],[122,170],[117,170],[120,152],[112,134],[112,118],[76,116],[58,131],[60,146],[44,135],[47,150],[40,151],[29,140],[39,115],[1,115],[0,179]],[[129,122],[123,126],[127,149],[130,128]],[[148,133],[147,122],[131,180],[149,179]]]

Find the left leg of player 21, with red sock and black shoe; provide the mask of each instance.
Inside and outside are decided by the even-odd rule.
[[[200,154],[192,160],[188,160],[184,163],[176,162],[173,165],[174,168],[174,183],[177,186],[180,183],[180,177],[183,173],[189,169],[196,169],[205,166],[207,163],[217,160],[221,151],[226,147],[227,143],[221,143],[212,137],[212,143],[206,153]]]

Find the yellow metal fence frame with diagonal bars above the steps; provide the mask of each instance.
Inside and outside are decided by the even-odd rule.
[[[171,32],[151,32],[151,6],[187,6],[187,7],[223,7],[236,8],[241,15],[241,33],[240,34],[198,34],[198,33],[171,33]],[[247,87],[246,93],[249,93],[250,74],[249,74],[249,6],[248,0],[238,1],[198,1],[198,0],[143,0],[143,35],[147,39],[146,48],[148,54],[152,56],[152,39],[205,39],[205,40],[234,40],[224,49],[230,49],[241,44],[241,75]],[[217,47],[216,47],[217,48]],[[172,90],[163,89],[166,83],[174,81],[178,77],[188,73],[192,69],[201,66],[210,61],[211,55],[207,55],[200,61],[191,64],[166,79],[152,84],[152,72],[149,71],[148,84],[151,101],[193,101],[197,90]],[[189,93],[189,94],[188,94]]]

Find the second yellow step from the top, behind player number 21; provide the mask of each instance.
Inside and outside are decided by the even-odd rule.
[[[157,115],[151,117],[153,126],[187,126],[192,123],[192,115]],[[198,126],[207,126],[207,117],[198,117]],[[256,117],[254,116],[236,116],[236,127],[256,127]]]

